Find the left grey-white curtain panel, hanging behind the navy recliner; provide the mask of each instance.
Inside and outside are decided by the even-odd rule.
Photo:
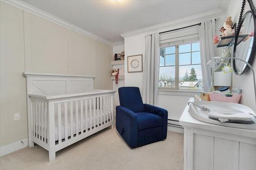
[[[159,51],[159,33],[146,35],[142,98],[151,105],[156,105],[157,101]]]

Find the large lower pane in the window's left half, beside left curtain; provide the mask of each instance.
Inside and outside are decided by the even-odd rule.
[[[158,87],[175,88],[175,66],[159,68]]]

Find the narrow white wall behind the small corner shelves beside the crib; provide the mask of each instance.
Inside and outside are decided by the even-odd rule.
[[[123,51],[124,51],[124,44],[119,44],[119,45],[113,46],[113,56],[114,56],[114,54],[119,54]],[[124,68],[124,65],[113,65],[113,68],[116,68],[116,69]],[[118,106],[119,105],[118,88],[124,86],[124,80],[119,79],[118,84],[116,84],[115,80],[113,80],[112,82],[113,82],[113,90],[116,90],[116,93],[114,95],[115,105]]]

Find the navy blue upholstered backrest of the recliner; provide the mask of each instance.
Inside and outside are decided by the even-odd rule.
[[[140,89],[138,87],[120,87],[118,89],[120,106],[133,112],[145,112]]]

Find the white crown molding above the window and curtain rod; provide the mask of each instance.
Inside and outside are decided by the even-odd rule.
[[[172,20],[172,21],[159,23],[158,25],[145,27],[145,28],[130,31],[130,32],[127,32],[127,33],[122,33],[120,35],[123,38],[127,38],[127,37],[131,37],[131,36],[134,36],[134,35],[139,35],[139,34],[146,34],[146,33],[153,33],[153,32],[164,32],[164,31],[168,31],[168,30],[171,30],[171,29],[177,29],[177,28],[180,28],[180,27],[193,25],[193,24],[196,24],[196,23],[198,23],[202,20],[218,17],[218,16],[221,16],[221,15],[224,15],[224,13],[222,12],[221,9],[218,8],[218,9],[210,10],[210,11],[207,11],[207,12],[202,12],[202,13],[199,13],[199,14],[183,17],[183,18],[180,18],[180,19],[175,19],[175,20]]]

